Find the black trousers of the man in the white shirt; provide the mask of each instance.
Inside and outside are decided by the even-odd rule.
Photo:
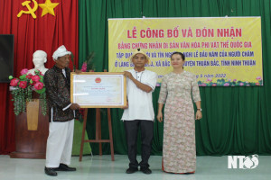
[[[134,120],[124,121],[126,129],[126,141],[128,146],[129,166],[137,168],[149,167],[148,160],[152,151],[152,140],[154,138],[154,121]],[[137,134],[141,130],[141,162],[136,160],[137,153]]]

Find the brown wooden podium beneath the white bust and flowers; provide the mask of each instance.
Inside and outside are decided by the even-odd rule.
[[[48,115],[42,115],[39,94],[33,92],[33,102],[15,117],[16,151],[11,158],[45,158],[46,143],[49,134]]]

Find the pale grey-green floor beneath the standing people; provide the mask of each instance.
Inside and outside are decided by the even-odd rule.
[[[197,170],[194,175],[167,174],[161,170],[160,156],[150,158],[150,168],[153,174],[145,175],[136,172],[132,175],[125,173],[128,159],[125,155],[111,157],[72,157],[71,166],[77,167],[76,172],[58,172],[58,176],[51,177],[44,174],[44,159],[20,159],[0,155],[0,180],[264,180],[271,179],[271,156],[260,156],[259,164],[254,169],[229,169],[228,157],[197,157]],[[140,157],[138,157],[140,159]]]

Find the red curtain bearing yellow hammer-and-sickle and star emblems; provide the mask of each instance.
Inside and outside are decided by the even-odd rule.
[[[47,68],[54,65],[52,53],[61,45],[74,54],[78,64],[78,1],[1,0],[0,24],[0,34],[14,34],[14,76],[23,68],[33,68],[33,52],[38,49],[47,53]],[[14,113],[8,86],[0,84],[0,154],[14,150]]]

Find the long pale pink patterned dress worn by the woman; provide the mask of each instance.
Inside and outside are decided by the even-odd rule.
[[[195,112],[192,100],[201,101],[196,76],[187,71],[164,76],[158,103],[165,103],[165,172],[191,173],[196,170]]]

